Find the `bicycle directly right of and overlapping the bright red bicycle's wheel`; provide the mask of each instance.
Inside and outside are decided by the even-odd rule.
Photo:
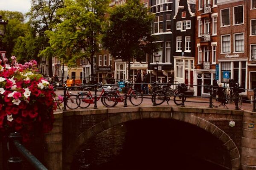
[[[114,87],[112,88],[113,91],[109,92],[114,96],[116,96],[115,105],[117,105],[118,102],[124,102],[125,95],[127,95],[132,105],[134,106],[140,105],[143,102],[143,95],[140,92],[135,91],[134,88],[131,86],[131,83],[128,83],[127,88],[128,88],[128,91],[127,89],[125,89],[126,91],[124,95],[120,94],[120,91],[119,91],[121,89],[120,87]]]

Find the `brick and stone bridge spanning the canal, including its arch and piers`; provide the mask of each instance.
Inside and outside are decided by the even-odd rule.
[[[209,161],[232,170],[256,170],[256,113],[251,111],[141,106],[64,111],[55,118],[53,130],[44,137],[43,163],[49,170],[70,170],[74,154],[89,139],[115,125],[143,119],[169,119],[200,128],[219,141],[218,148],[226,155],[225,160],[215,160],[213,154]]]

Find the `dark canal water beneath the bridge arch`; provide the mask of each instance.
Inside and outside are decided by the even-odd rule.
[[[191,148],[191,145],[196,145],[199,149],[201,145],[204,145],[196,144],[198,142],[193,143],[193,136],[198,138],[202,134],[195,132],[196,134],[193,135],[189,132],[184,136],[185,131],[179,130],[178,124],[173,124],[175,123],[145,121],[111,127],[81,146],[74,157],[71,169],[227,170],[209,161],[204,161],[202,158],[192,156],[191,153],[195,150]],[[183,124],[180,126],[185,126],[181,129],[187,128]],[[204,136],[204,140],[207,138],[209,138],[208,142],[212,140],[209,136],[205,134]],[[217,147],[219,146],[216,144]],[[202,146],[199,152],[204,153],[203,148]]]

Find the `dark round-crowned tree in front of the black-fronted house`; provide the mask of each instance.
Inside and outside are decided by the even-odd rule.
[[[131,57],[140,61],[145,53],[156,51],[154,37],[151,35],[153,19],[154,16],[149,14],[140,0],[127,0],[123,6],[116,6],[110,12],[102,45],[116,59],[128,62],[128,71],[131,68]]]

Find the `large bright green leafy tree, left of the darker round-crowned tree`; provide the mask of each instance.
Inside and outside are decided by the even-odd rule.
[[[75,65],[79,58],[88,58],[94,77],[93,56],[98,51],[98,39],[108,10],[109,0],[66,0],[58,10],[62,22],[54,31],[47,31],[55,55]]]

